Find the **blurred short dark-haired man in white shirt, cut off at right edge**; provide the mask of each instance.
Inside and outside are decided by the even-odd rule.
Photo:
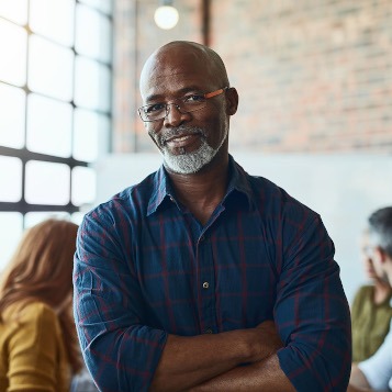
[[[369,240],[376,275],[392,287],[392,206],[369,217]],[[369,359],[352,365],[348,392],[392,389],[392,328],[384,343]]]

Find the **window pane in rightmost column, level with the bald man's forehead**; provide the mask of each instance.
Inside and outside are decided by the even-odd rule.
[[[109,112],[111,99],[109,68],[77,56],[75,69],[75,103],[86,109]]]

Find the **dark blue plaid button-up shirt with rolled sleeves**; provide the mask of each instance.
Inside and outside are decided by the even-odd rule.
[[[231,157],[227,192],[202,226],[161,167],[88,213],[74,270],[86,363],[104,392],[147,391],[167,334],[275,320],[299,391],[346,391],[350,316],[320,216]]]

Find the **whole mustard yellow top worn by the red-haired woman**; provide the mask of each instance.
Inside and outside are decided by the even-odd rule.
[[[34,302],[13,321],[12,307],[0,323],[0,392],[68,392],[70,367],[57,315]]]

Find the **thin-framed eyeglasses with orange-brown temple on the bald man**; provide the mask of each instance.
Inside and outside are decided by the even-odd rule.
[[[145,107],[138,108],[137,112],[141,119],[145,122],[166,119],[169,115],[169,111],[170,111],[169,108],[171,104],[173,104],[177,108],[177,110],[182,114],[189,112],[195,112],[197,110],[206,107],[208,99],[220,96],[227,89],[228,87],[224,87],[223,89],[208,92],[205,94],[188,94],[182,98],[176,99],[175,101],[177,103],[159,102],[159,103],[146,104]]]

